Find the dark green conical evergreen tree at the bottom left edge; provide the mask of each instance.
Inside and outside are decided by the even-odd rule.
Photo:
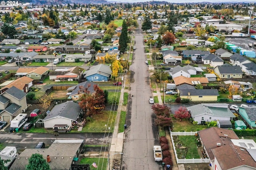
[[[26,170],[50,170],[50,165],[41,154],[35,153],[28,159]]]

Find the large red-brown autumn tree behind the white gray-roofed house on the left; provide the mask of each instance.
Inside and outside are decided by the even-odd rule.
[[[90,85],[88,85],[89,87]],[[83,95],[80,97],[81,102],[79,106],[84,111],[87,111],[87,116],[90,116],[100,113],[105,108],[105,98],[103,90],[98,85],[94,85],[94,92],[92,94],[88,91],[88,88],[82,89],[80,87],[80,93]]]

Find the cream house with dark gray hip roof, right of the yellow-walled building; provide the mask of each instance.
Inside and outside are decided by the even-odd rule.
[[[242,78],[243,73],[240,66],[232,66],[229,64],[223,64],[222,66],[216,66],[214,72],[222,78]]]

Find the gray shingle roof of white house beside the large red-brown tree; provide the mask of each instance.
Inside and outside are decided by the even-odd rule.
[[[79,104],[68,101],[54,106],[50,113],[46,115],[44,121],[52,119],[56,116],[61,116],[76,121],[80,111],[81,107]]]

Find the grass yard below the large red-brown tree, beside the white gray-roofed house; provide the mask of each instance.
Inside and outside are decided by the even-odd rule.
[[[110,120],[108,121],[108,119]],[[109,132],[108,127],[110,127],[110,133],[114,130],[114,122],[116,119],[116,111],[103,111],[101,114],[96,114],[92,116],[92,121],[87,121],[86,125],[83,127],[81,132],[84,133],[104,133]],[[107,125],[107,127],[105,126]]]

